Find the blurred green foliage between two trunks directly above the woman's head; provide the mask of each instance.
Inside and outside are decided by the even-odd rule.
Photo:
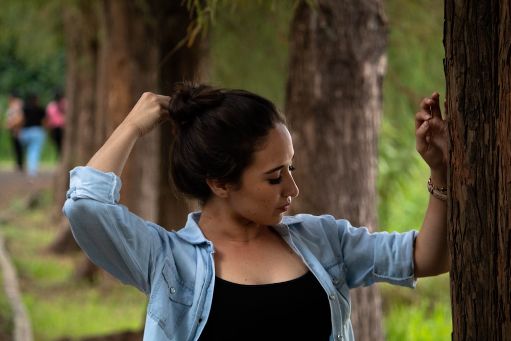
[[[295,2],[238,5],[218,5],[211,30],[211,82],[250,90],[283,108]]]

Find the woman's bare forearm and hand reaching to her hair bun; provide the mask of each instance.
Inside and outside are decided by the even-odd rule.
[[[169,96],[144,93],[129,115],[92,156],[87,166],[121,176],[136,140],[153,130],[161,122],[170,120],[167,109],[169,102]]]

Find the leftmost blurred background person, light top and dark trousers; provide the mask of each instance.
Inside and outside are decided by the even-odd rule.
[[[7,95],[7,110],[5,127],[11,135],[12,146],[14,149],[14,157],[16,167],[19,171],[23,171],[23,149],[19,141],[19,130],[24,126],[25,115],[23,112],[23,101],[11,92]]]

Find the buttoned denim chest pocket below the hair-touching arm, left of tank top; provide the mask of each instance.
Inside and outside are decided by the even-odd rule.
[[[187,316],[193,297],[193,285],[183,281],[175,266],[167,261],[151,292],[147,313],[172,339]]]

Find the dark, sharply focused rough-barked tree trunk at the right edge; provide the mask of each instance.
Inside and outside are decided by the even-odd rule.
[[[511,339],[510,15],[445,2],[453,340]]]

